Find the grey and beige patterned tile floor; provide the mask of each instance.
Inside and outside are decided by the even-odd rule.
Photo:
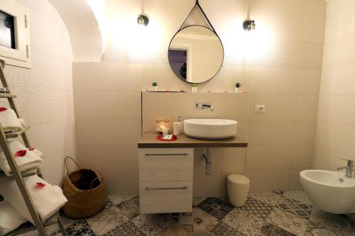
[[[138,196],[109,196],[100,213],[84,220],[63,217],[70,236],[185,236],[209,231],[217,236],[355,236],[344,215],[313,208],[302,191],[250,193],[241,208],[219,198],[194,198],[192,213],[140,214]],[[60,235],[58,228],[48,228]]]

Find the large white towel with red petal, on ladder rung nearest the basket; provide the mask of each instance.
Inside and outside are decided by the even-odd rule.
[[[67,203],[67,198],[62,194],[62,189],[58,186],[48,184],[40,177],[34,175],[24,178],[28,192],[33,200],[35,209],[40,215],[41,220],[45,221]],[[24,218],[33,223],[26,203],[23,201],[16,181],[3,180],[0,183],[0,194],[11,203],[13,208],[18,210]]]

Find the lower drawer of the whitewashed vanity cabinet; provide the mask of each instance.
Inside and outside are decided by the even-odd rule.
[[[192,212],[192,181],[150,181],[139,184],[141,213]]]

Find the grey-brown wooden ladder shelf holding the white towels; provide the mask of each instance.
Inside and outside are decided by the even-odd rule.
[[[0,62],[1,62],[0,63],[1,84],[4,88],[8,89],[8,91],[6,93],[0,94],[0,98],[7,99],[9,101],[10,107],[13,109],[13,111],[15,111],[17,117],[20,118],[17,108],[16,108],[16,105],[13,101],[13,98],[16,98],[16,95],[11,94],[9,85],[6,81],[6,77],[4,74],[5,62],[3,60],[0,60]],[[23,178],[26,178],[28,176],[33,176],[35,174],[38,174],[39,176],[41,176],[40,169],[32,169],[27,172],[21,173],[18,170],[18,166],[13,158],[13,153],[9,147],[8,138],[21,136],[25,146],[27,148],[30,148],[31,145],[30,145],[30,142],[28,141],[28,137],[26,135],[26,130],[28,130],[28,128],[29,127],[24,128],[21,132],[4,133],[4,129],[2,128],[2,126],[0,124],[0,145],[1,145],[1,148],[4,152],[4,154],[5,154],[7,162],[9,162],[9,166],[11,168],[11,173],[12,173],[12,176],[8,177],[4,174],[4,172],[0,172],[0,178],[12,178],[16,181],[18,189],[21,192],[23,200],[25,201],[28,211],[31,214],[31,217],[33,218],[33,222],[35,224],[35,225],[32,225],[31,223],[23,224],[17,230],[14,230],[13,232],[9,232],[9,234],[7,234],[5,236],[20,235],[25,232],[30,232],[33,230],[38,230],[38,233],[40,236],[48,236],[47,232],[45,232],[45,227],[49,226],[49,225],[53,225],[55,223],[58,224],[58,226],[60,227],[60,232],[62,232],[62,235],[66,236],[65,227],[63,226],[62,219],[60,218],[60,215],[58,212],[55,213],[57,220],[45,222],[45,223],[42,222],[42,220],[40,219],[40,216],[38,215],[37,210],[35,209],[35,206],[33,205],[33,200],[31,198],[30,194],[28,193],[28,189],[26,187],[26,184],[24,184],[24,182],[23,182]]]

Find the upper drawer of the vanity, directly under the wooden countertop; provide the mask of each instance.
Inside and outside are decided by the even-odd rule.
[[[192,180],[193,153],[193,148],[139,149],[139,180]]]

